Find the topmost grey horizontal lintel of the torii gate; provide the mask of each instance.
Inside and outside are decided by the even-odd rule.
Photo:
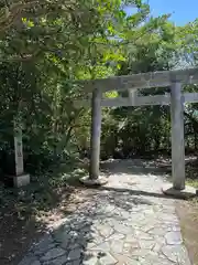
[[[198,84],[198,68],[112,76],[101,80],[80,81],[78,84],[82,85],[86,92],[92,92],[95,88],[102,89],[102,92],[108,92],[167,87],[170,86],[173,82],[179,82],[184,85]]]

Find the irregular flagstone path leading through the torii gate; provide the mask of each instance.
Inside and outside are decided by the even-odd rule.
[[[165,178],[140,160],[110,171],[19,265],[190,265],[174,200],[161,193]]]

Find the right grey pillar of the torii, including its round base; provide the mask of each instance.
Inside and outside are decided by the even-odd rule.
[[[182,84],[173,82],[170,87],[173,184],[164,187],[163,192],[182,199],[196,194],[194,188],[185,186],[184,103]]]

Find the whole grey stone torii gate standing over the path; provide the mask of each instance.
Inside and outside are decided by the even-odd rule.
[[[99,172],[102,106],[170,105],[173,186],[163,188],[163,192],[174,195],[196,193],[193,188],[185,186],[184,104],[198,103],[198,93],[183,93],[183,85],[198,84],[198,68],[132,74],[82,81],[80,84],[86,92],[92,93],[90,169],[89,177],[81,179],[85,184],[103,184],[107,182]],[[138,89],[152,87],[170,87],[170,94],[138,96]],[[128,91],[129,97],[102,98],[102,93],[109,91]],[[89,103],[89,100],[82,100],[78,102],[78,105],[87,106]]]

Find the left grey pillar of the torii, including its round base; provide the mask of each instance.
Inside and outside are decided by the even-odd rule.
[[[91,99],[89,176],[80,179],[87,186],[102,186],[108,182],[106,178],[100,176],[101,98],[101,89],[95,88]]]

